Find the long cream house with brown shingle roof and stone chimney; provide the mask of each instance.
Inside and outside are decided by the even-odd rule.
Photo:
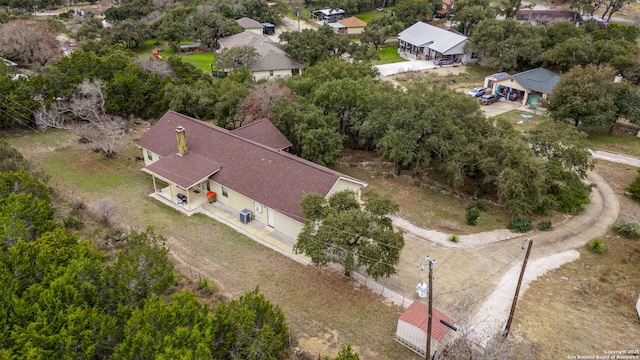
[[[173,111],[140,139],[143,171],[151,174],[155,196],[188,211],[220,206],[293,238],[304,223],[300,201],[352,190],[360,200],[367,183],[278,149],[288,146],[268,120],[229,131]]]

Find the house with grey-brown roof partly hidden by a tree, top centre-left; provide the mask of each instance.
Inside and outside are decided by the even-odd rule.
[[[271,41],[262,34],[244,31],[239,34],[218,39],[220,50],[249,46],[259,54],[251,63],[253,80],[276,79],[300,74],[303,65],[282,50],[280,44]]]

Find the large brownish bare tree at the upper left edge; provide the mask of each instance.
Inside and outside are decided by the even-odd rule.
[[[56,29],[43,21],[14,20],[0,27],[0,55],[46,65],[62,55]]]

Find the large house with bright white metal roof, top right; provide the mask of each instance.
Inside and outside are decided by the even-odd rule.
[[[478,61],[470,50],[465,51],[469,39],[457,32],[441,29],[422,21],[398,34],[398,54],[408,60],[450,59],[470,64]]]

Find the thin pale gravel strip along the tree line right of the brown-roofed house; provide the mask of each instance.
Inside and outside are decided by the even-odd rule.
[[[454,243],[449,240],[451,234],[415,226],[407,219],[403,219],[399,216],[391,216],[391,218],[393,220],[393,225],[395,225],[397,228],[428,239],[438,245],[451,248],[469,248],[479,245],[492,244],[524,235],[511,232],[507,229],[498,229],[469,235],[459,235],[458,242]]]

